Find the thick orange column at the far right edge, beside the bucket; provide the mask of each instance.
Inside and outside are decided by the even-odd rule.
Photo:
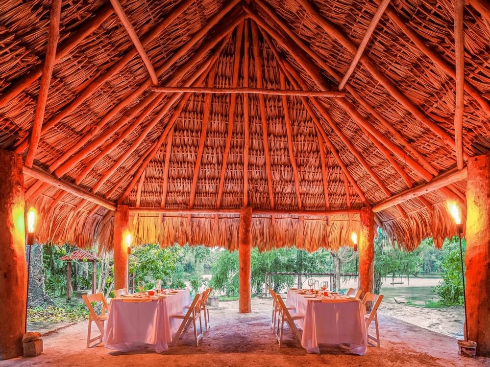
[[[466,309],[468,339],[490,356],[490,156],[470,158],[466,184]]]

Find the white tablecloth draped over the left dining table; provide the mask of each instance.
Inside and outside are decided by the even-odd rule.
[[[107,348],[126,352],[135,347],[151,344],[156,352],[169,349],[172,336],[182,320],[170,315],[186,312],[191,303],[189,290],[180,291],[164,299],[150,302],[125,302],[114,298],[109,306],[104,343]]]

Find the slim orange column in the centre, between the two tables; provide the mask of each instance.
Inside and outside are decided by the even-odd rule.
[[[239,311],[242,314],[252,312],[250,284],[250,250],[252,242],[252,208],[243,207],[240,209],[239,226],[239,246],[238,246],[238,265],[239,265]]]

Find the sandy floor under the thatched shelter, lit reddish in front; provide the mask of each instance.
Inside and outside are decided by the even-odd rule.
[[[0,362],[7,366],[490,366],[490,359],[467,359],[457,353],[456,340],[427,329],[380,315],[381,348],[368,347],[353,356],[338,346],[320,346],[310,355],[287,332],[281,349],[269,327],[270,300],[254,298],[251,314],[238,314],[237,302],[221,302],[212,309],[212,328],[198,347],[191,333],[168,352],[150,349],[118,353],[103,346],[85,348],[86,322],[44,337],[45,352],[36,358]]]

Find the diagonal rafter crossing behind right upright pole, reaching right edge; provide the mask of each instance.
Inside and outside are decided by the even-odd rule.
[[[381,0],[375,0],[377,3],[380,3]],[[478,0],[470,0],[469,3],[477,2]],[[473,7],[475,7],[473,5]],[[396,24],[405,35],[422,51],[422,53],[427,56],[434,65],[438,66],[439,69],[444,71],[447,75],[456,80],[456,72],[454,67],[448,63],[441,55],[439,55],[436,51],[434,51],[430,46],[427,46],[429,42],[423,39],[416,31],[414,31],[409,23],[403,20],[396,10],[389,5],[385,11],[391,21]],[[489,18],[490,20],[490,7],[489,7]],[[483,109],[484,113],[487,116],[490,116],[490,103],[485,99],[481,92],[479,92],[469,81],[465,80],[465,91],[471,95]]]

